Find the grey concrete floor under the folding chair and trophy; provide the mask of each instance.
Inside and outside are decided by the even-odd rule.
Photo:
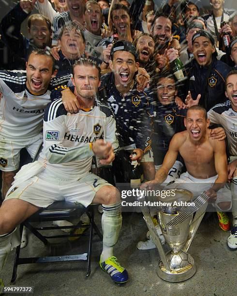
[[[96,214],[99,225],[100,215]],[[14,285],[34,286],[35,296],[234,296],[237,295],[237,251],[227,248],[226,239],[229,232],[218,226],[216,214],[202,221],[189,252],[197,264],[197,272],[188,281],[169,283],[157,275],[159,253],[157,250],[138,251],[136,243],[145,240],[147,232],[142,214],[123,213],[123,226],[115,255],[122,266],[126,266],[130,279],[126,284],[112,282],[99,265],[102,242],[93,244],[91,275],[86,279],[86,263],[66,262],[51,264],[31,264],[18,267],[18,277]],[[53,255],[80,253],[85,246],[84,238],[73,243],[60,239],[53,244]],[[22,250],[22,256],[38,256],[49,253],[49,248],[33,235],[28,246]],[[4,268],[3,280],[10,284],[15,252],[11,252]],[[15,294],[16,295],[16,294]],[[19,295],[19,294],[17,294]],[[26,294],[25,294],[26,295]]]

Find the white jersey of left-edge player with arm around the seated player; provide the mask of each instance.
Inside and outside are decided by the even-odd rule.
[[[26,88],[26,71],[0,71],[0,135],[12,139],[38,136],[51,89],[67,84],[70,77],[52,78],[44,94],[33,95]]]

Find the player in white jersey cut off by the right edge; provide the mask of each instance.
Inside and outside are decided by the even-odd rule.
[[[229,180],[231,180],[233,227],[227,239],[229,248],[237,250],[237,71],[226,76],[225,95],[228,100],[211,108],[207,116],[211,123],[221,124],[228,139]]]

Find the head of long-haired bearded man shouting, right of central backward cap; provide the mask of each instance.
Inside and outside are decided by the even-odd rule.
[[[139,67],[144,68],[148,74],[153,75],[156,70],[156,62],[154,60],[155,41],[152,35],[148,33],[140,34],[134,41],[138,54]]]

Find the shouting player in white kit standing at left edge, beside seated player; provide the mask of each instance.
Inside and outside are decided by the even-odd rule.
[[[50,102],[51,89],[70,80],[70,75],[52,78],[56,73],[53,58],[44,50],[30,54],[26,71],[0,71],[3,199],[19,168],[20,150],[26,148],[34,158],[42,144],[44,109]]]

